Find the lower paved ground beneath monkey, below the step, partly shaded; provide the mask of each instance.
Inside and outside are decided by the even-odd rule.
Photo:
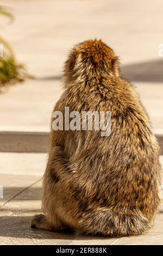
[[[30,228],[33,215],[41,213],[41,177],[47,155],[0,153],[0,245],[162,245],[163,208],[147,234],[114,239],[102,236],[57,233]],[[163,163],[163,156],[160,157]]]

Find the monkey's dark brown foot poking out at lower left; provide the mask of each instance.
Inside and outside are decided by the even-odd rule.
[[[35,215],[30,225],[32,228],[44,229],[48,231],[57,231],[63,228],[62,223],[59,218],[57,218],[57,216],[55,216],[53,223],[50,223],[47,221],[46,216],[43,214]]]

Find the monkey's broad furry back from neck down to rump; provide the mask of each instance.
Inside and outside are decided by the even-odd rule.
[[[139,209],[152,220],[159,205],[159,147],[133,86],[120,77],[72,84],[54,110],[64,113],[66,106],[70,112],[111,112],[108,137],[101,131],[52,130],[75,177],[65,188],[68,207],[78,216],[96,208]]]

